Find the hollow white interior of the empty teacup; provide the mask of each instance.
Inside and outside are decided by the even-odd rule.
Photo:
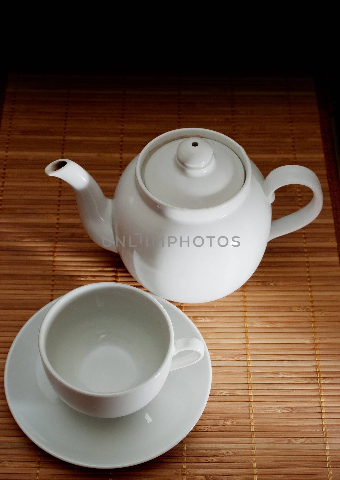
[[[50,366],[84,392],[115,393],[142,384],[169,350],[164,312],[137,288],[86,287],[93,288],[70,292],[50,311],[42,343]]]

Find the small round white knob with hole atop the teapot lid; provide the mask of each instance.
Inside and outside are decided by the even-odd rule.
[[[176,150],[177,160],[184,168],[199,169],[207,167],[212,159],[212,146],[199,137],[186,138]]]

